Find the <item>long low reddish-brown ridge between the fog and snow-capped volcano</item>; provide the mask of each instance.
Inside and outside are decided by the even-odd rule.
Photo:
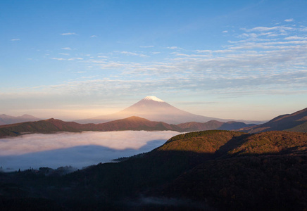
[[[187,122],[184,124],[168,124],[165,122],[149,121],[141,117],[127,117],[123,120],[114,120],[101,124],[79,124],[77,122],[64,122],[62,120],[39,120],[36,122],[21,122],[0,126],[0,138],[5,136],[18,136],[22,134],[54,132],[84,132],[84,131],[123,131],[146,130],[163,131],[173,130],[177,132],[191,132],[208,129],[239,129],[249,124],[243,122],[218,122],[212,120],[206,123]]]

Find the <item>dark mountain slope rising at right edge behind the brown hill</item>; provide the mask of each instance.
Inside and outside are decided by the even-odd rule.
[[[267,132],[272,130],[284,130],[292,132],[307,132],[307,108],[292,114],[280,115],[264,124],[240,129],[248,133]]]

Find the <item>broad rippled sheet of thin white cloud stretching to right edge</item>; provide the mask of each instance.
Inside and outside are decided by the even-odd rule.
[[[289,34],[271,39],[270,30],[289,30]],[[253,33],[246,35],[247,31]],[[239,36],[241,40],[229,41],[229,45],[223,46],[223,49],[187,51],[177,46],[168,47],[176,51],[166,54],[167,59],[163,62],[123,62],[120,58],[114,60],[108,56],[103,56],[103,59],[99,56],[99,59],[84,59],[84,62],[92,67],[119,72],[109,75],[108,79],[70,82],[63,84],[62,88],[65,91],[73,91],[76,87],[86,87],[87,91],[73,92],[104,95],[114,95],[117,92],[127,95],[132,92],[146,94],[151,90],[165,89],[199,93],[214,91],[220,94],[221,90],[228,89],[223,95],[231,94],[232,91],[250,95],[265,94],[265,89],[268,89],[265,87],[275,86],[279,87],[276,89],[282,89],[284,84],[288,84],[291,89],[306,89],[307,70],[304,67],[307,66],[307,40],[302,39],[306,35],[301,34],[299,37],[292,34],[297,31],[298,28],[284,26],[243,29],[242,36]],[[258,36],[263,39],[258,39]],[[131,51],[115,53],[127,56],[142,55]],[[145,79],[146,77],[149,79]],[[295,86],[291,85],[294,81]],[[74,88],[70,89],[70,86]],[[258,92],[252,91],[253,89]]]

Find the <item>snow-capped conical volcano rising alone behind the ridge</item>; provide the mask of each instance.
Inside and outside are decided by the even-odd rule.
[[[103,123],[112,120],[120,120],[131,116],[142,117],[151,121],[161,121],[168,124],[179,124],[183,122],[208,122],[210,120],[218,120],[226,122],[214,117],[205,117],[202,115],[195,115],[184,110],[180,110],[157,98],[156,96],[146,96],[141,101],[132,106],[121,110],[118,113],[111,115],[103,115],[86,120],[76,120],[79,123]]]

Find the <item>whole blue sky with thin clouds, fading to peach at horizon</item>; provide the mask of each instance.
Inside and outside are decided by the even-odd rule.
[[[63,120],[157,96],[269,120],[307,107],[307,1],[0,2],[0,113]]]

